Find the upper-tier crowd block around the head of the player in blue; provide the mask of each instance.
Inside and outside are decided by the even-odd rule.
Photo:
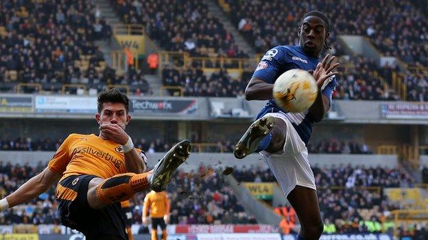
[[[340,34],[366,36],[386,56],[428,66],[427,17],[412,1],[306,0],[291,5],[280,0],[226,2],[230,20],[260,53],[271,46],[296,44],[300,19],[308,10],[316,9],[327,12],[331,19],[332,42]],[[283,21],[266,16],[283,16]]]

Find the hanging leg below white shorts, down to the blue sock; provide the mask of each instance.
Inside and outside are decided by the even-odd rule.
[[[324,230],[314,189],[296,186],[287,196],[300,222],[299,239],[318,240]]]

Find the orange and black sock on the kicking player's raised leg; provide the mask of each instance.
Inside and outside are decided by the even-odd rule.
[[[97,196],[105,204],[130,200],[137,192],[150,188],[150,174],[126,173],[107,178],[98,185]]]

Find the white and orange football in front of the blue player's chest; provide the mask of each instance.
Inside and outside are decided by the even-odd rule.
[[[274,101],[284,109],[300,113],[311,107],[318,94],[318,87],[312,75],[302,69],[284,72],[274,83]]]

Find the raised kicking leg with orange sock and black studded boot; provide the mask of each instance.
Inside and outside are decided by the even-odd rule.
[[[164,191],[171,176],[190,154],[190,142],[183,140],[171,148],[150,172],[117,174],[111,178],[93,178],[88,186],[88,203],[93,209],[129,200],[139,191],[151,188]]]

